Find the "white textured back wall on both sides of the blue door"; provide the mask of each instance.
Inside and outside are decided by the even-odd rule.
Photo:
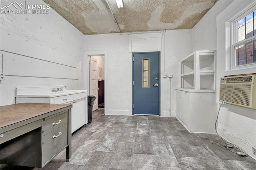
[[[128,52],[128,33],[122,33],[122,35],[118,33],[85,35],[84,50],[85,53],[87,53],[86,51],[108,51],[108,56],[105,55],[105,63],[107,64],[105,67],[105,89],[107,89],[105,113],[131,115],[132,58]],[[180,64],[177,63],[190,53],[192,53],[191,29],[166,31],[166,73],[173,74],[171,86],[172,116],[175,116],[176,110],[174,89],[180,87]],[[163,57],[164,51],[161,51],[161,75],[164,72]],[[171,113],[169,79],[161,78],[161,115],[170,117]]]

